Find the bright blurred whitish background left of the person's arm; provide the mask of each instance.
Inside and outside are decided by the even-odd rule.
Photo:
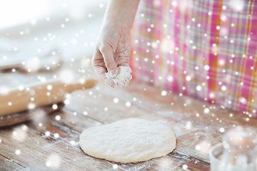
[[[41,58],[57,51],[64,61],[91,58],[107,2],[2,1],[0,68],[16,60],[25,65],[27,59],[31,61],[31,58]]]

